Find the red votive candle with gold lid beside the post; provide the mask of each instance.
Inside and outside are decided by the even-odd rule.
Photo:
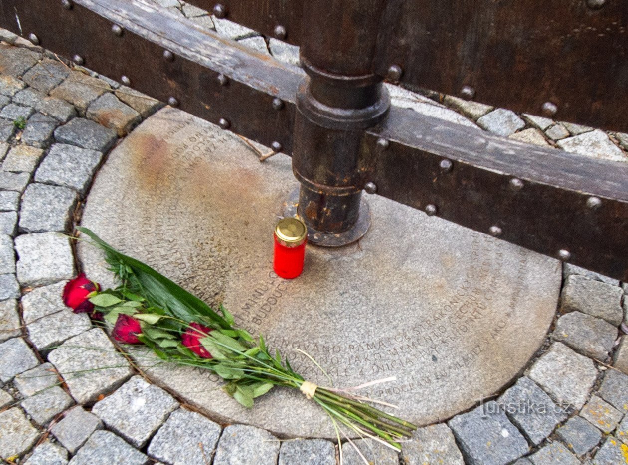
[[[279,220],[274,232],[274,272],[282,278],[293,279],[303,271],[308,228],[298,218]]]

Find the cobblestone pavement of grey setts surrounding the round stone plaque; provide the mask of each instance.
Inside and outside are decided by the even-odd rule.
[[[298,63],[295,47],[178,0],[154,1]],[[335,464],[330,441],[277,441],[266,430],[220,425],[193,411],[146,382],[85,314],[63,306],[64,282],[77,265],[58,232],[71,232],[80,220],[107,152],[162,104],[70,69],[8,31],[0,38],[0,457],[25,464]],[[389,90],[395,105],[424,114],[628,161],[626,134]],[[563,275],[553,331],[516,383],[473,410],[421,428],[401,454],[355,441],[364,455],[407,465],[628,463],[627,286],[571,265]],[[361,462],[350,444],[342,450],[346,464]]]

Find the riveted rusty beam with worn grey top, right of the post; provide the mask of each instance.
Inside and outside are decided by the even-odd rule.
[[[564,250],[570,263],[628,281],[626,163],[398,108],[366,132],[362,151],[379,195],[551,257]]]

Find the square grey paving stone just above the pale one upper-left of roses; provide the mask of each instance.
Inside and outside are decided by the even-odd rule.
[[[19,211],[19,230],[27,233],[68,230],[77,200],[77,192],[70,188],[30,184]]]

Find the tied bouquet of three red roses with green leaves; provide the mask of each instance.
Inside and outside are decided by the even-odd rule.
[[[263,336],[255,341],[246,330],[234,326],[234,318],[224,307],[220,306],[220,313],[212,310],[89,229],[77,229],[104,251],[119,286],[102,290],[81,274],[65,286],[63,301],[75,313],[87,312],[111,324],[117,341],[144,344],[163,360],[214,371],[227,382],[224,391],[245,407],[252,407],[254,398],[275,386],[299,389],[330,415],[338,441],[342,425],[360,437],[372,437],[399,450],[399,440],[416,429],[367,403],[376,401],[304,380],[279,351],[269,350]]]

